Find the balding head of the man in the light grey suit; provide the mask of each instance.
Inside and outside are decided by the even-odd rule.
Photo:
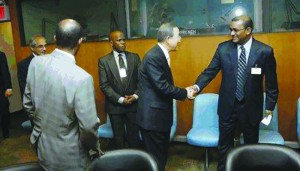
[[[81,25],[73,19],[64,19],[56,27],[56,45],[62,48],[74,49],[83,36]]]

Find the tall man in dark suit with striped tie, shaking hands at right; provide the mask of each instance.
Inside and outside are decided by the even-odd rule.
[[[266,111],[272,114],[278,98],[276,61],[273,49],[252,36],[253,22],[238,16],[230,23],[232,40],[219,44],[209,66],[198,76],[197,92],[221,70],[219,90],[218,170],[225,169],[226,154],[233,147],[234,131],[239,124],[245,144],[258,143],[259,123],[263,117],[265,80]]]

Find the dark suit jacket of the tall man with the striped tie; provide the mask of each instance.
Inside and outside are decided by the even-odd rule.
[[[209,64],[198,76],[196,84],[200,91],[221,70],[222,82],[219,90],[218,114],[228,119],[232,113],[235,101],[237,82],[238,52],[237,44],[231,40],[221,43]],[[261,68],[260,75],[251,74],[251,68]],[[252,41],[246,68],[245,83],[245,113],[250,123],[260,122],[263,114],[263,80],[265,79],[266,109],[273,110],[278,98],[278,85],[276,74],[276,61],[273,49],[255,39]]]

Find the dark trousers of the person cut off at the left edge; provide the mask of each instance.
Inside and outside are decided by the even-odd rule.
[[[0,98],[0,119],[1,119],[1,128],[2,135],[4,138],[9,137],[9,102],[7,98]]]

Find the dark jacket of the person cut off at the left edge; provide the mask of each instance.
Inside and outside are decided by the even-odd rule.
[[[8,99],[5,97],[5,91],[11,89],[11,78],[8,69],[6,55],[0,52],[0,107],[8,103]],[[1,110],[1,109],[0,109]]]

